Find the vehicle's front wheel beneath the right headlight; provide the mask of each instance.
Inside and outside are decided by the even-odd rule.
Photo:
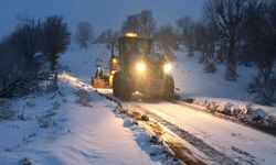
[[[163,98],[166,100],[174,99],[174,81],[170,75],[166,75],[164,77]]]

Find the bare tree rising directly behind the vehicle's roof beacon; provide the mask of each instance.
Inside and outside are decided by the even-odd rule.
[[[140,13],[135,13],[127,16],[123,23],[121,32],[136,32],[140,36],[149,37],[153,34],[156,21],[150,10],[142,10]]]

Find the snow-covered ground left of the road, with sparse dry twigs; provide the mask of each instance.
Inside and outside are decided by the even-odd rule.
[[[0,164],[19,164],[24,157],[43,165],[159,164],[141,152],[137,136],[113,113],[115,107],[66,77],[57,92],[13,100],[11,109],[23,118],[1,121]]]

